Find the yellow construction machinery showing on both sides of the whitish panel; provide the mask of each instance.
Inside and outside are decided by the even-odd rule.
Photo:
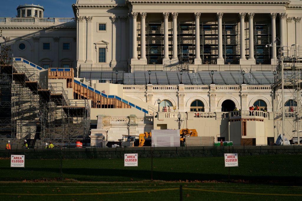
[[[138,142],[136,140],[136,142],[134,143],[134,146],[151,146],[151,132],[145,132],[139,135],[139,139]],[[185,137],[189,137],[189,136],[198,136],[197,135],[197,131],[196,129],[188,129],[188,128],[184,128],[182,130],[180,130],[180,144],[181,146],[184,145],[185,143]],[[148,145],[145,144],[146,140],[148,141]]]

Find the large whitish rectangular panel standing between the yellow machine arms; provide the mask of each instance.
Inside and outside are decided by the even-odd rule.
[[[151,130],[152,146],[180,146],[180,131],[178,130]]]

